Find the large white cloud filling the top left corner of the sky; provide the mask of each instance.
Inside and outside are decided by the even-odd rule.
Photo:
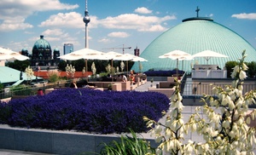
[[[38,11],[77,9],[78,4],[61,3],[59,0],[1,0],[0,1],[0,31],[25,30],[33,26],[25,22],[26,17]],[[15,17],[15,18],[14,18]]]

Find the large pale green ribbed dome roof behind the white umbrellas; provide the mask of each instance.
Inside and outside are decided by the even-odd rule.
[[[221,68],[230,60],[241,58],[241,52],[246,49],[247,62],[256,61],[256,50],[243,37],[239,36],[229,28],[214,22],[210,18],[188,18],[175,27],[170,28],[155,38],[152,43],[143,51],[141,57],[148,61],[141,62],[143,72],[149,69],[166,70],[174,69],[177,66],[177,60],[160,59],[172,50],[182,50],[195,55],[203,50],[212,50],[228,58],[211,58],[209,65],[218,65]],[[131,69],[138,71],[138,62]],[[207,64],[204,58],[195,58],[194,60],[179,61],[178,68],[184,71],[191,71],[191,63]]]

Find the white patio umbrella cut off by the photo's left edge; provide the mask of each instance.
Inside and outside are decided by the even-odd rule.
[[[20,55],[18,52],[0,47],[0,60],[28,60],[29,57]]]

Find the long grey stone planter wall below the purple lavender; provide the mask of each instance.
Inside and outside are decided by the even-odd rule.
[[[49,129],[21,129],[0,125],[0,149],[20,150],[26,152],[43,152],[51,154],[81,154],[83,152],[100,152],[100,144],[119,141],[120,135],[94,135],[74,131]],[[138,135],[140,137],[140,135]],[[143,137],[157,146],[154,139],[147,134]],[[149,137],[149,138],[148,138]]]

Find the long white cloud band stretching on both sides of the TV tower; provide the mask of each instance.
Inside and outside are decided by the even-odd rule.
[[[163,26],[157,29],[153,29],[152,26],[165,25],[167,20],[175,20],[175,15],[166,15],[164,17],[157,16],[144,16],[138,14],[120,14],[119,16],[108,16],[105,19],[98,20],[96,16],[90,16],[90,29],[97,26],[103,26],[108,29],[127,29],[137,30],[143,32],[165,31]],[[76,12],[70,12],[67,14],[59,13],[53,14],[48,20],[44,20],[39,25],[41,27],[53,26],[53,27],[69,27],[69,28],[81,28],[84,29],[84,21],[82,14]]]

